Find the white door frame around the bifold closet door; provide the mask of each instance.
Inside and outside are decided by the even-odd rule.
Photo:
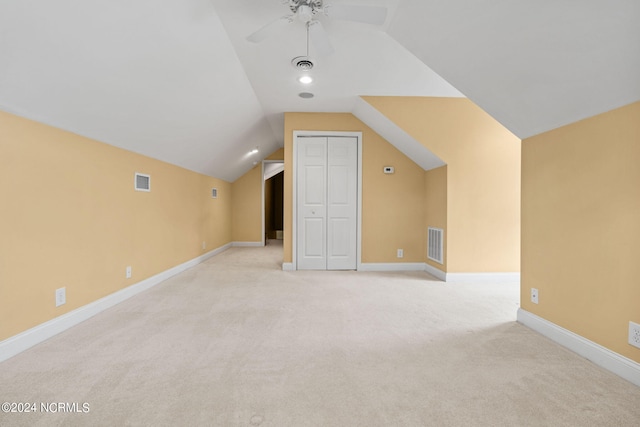
[[[356,238],[356,270],[360,270],[362,264],[362,132],[339,132],[339,131],[310,131],[310,130],[294,130],[293,131],[293,170],[291,176],[293,179],[293,215],[292,236],[291,236],[291,261],[293,270],[298,269],[298,254],[296,240],[298,237],[298,137],[305,136],[346,136],[356,138],[358,141],[358,201],[357,201],[357,238]]]

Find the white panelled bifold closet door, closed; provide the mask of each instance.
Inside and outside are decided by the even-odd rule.
[[[358,142],[298,137],[297,268],[357,267]]]

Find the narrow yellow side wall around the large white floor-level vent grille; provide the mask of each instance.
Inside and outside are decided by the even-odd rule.
[[[444,264],[426,257],[427,264],[438,270],[447,271],[447,166],[431,169],[424,173],[425,182],[425,229],[441,228],[445,232],[443,242]]]

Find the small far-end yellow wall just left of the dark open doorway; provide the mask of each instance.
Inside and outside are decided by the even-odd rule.
[[[231,236],[234,242],[262,242],[262,165],[231,184]]]

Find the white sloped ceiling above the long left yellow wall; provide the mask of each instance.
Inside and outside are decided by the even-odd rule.
[[[3,0],[0,108],[233,181],[277,141],[208,0]]]

